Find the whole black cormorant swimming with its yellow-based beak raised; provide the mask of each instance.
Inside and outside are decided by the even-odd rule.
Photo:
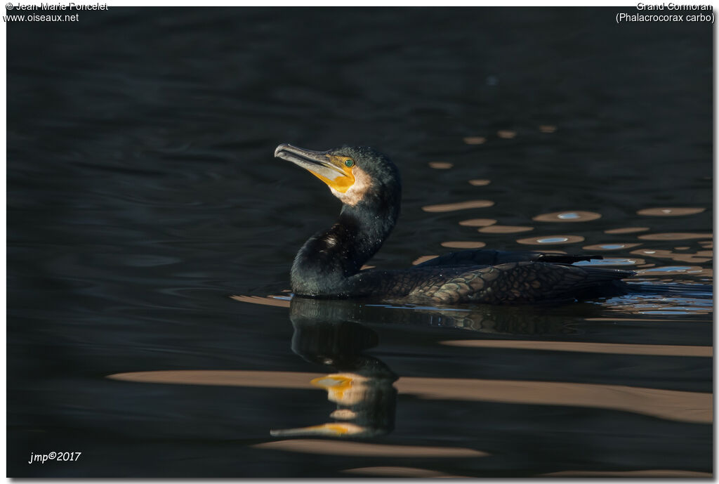
[[[408,303],[536,303],[597,296],[628,270],[573,262],[601,258],[531,251],[465,250],[404,270],[361,270],[380,250],[399,216],[399,171],[369,147],[326,152],[280,145],[275,156],[300,165],[342,201],[339,219],[314,234],[293,262],[296,296],[372,298]]]

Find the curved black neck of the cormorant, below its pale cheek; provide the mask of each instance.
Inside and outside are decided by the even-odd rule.
[[[347,278],[380,250],[392,232],[398,206],[344,205],[329,229],[302,246],[292,265],[292,289],[301,296],[349,296]]]

